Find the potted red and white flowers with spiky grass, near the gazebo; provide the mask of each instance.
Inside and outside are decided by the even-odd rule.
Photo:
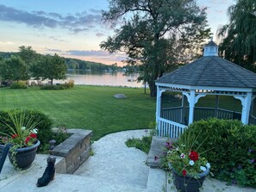
[[[184,134],[177,143],[166,142],[167,163],[172,170],[173,183],[181,192],[198,192],[203,186],[204,178],[209,174],[210,164],[202,157],[198,148],[193,148],[197,137]]]

